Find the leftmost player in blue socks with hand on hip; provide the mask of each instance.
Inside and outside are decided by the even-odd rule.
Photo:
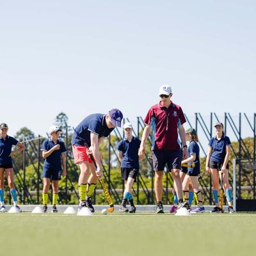
[[[8,185],[10,188],[10,194],[13,198],[13,205],[17,211],[21,212],[19,205],[17,205],[17,193],[13,184],[13,167],[12,156],[17,152],[25,150],[22,143],[15,140],[15,138],[8,136],[8,125],[0,124],[0,203],[1,212],[5,212],[4,207],[4,173],[8,179]],[[18,146],[19,148],[12,151],[12,146]]]

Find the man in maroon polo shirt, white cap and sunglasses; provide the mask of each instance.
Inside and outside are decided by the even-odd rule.
[[[163,85],[159,90],[160,102],[152,106],[144,119],[146,127],[141,138],[139,150],[140,158],[145,154],[145,143],[150,129],[153,129],[152,135],[152,158],[155,177],[156,191],[156,213],[163,213],[162,193],[163,193],[163,175],[164,166],[167,164],[168,170],[172,172],[173,179],[177,186],[177,194],[180,207],[183,206],[182,182],[180,180],[180,166],[182,158],[188,155],[186,145],[186,133],[183,124],[186,118],[182,109],[171,100],[172,88]],[[182,142],[182,149],[178,142],[178,131]]]

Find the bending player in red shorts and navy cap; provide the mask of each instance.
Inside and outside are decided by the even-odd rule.
[[[90,211],[94,212],[92,193],[99,177],[102,176],[99,145],[116,126],[121,127],[122,118],[123,114],[119,109],[111,109],[106,115],[92,114],[84,118],[74,131],[71,140],[72,151],[75,164],[79,164],[81,171],[78,180],[79,209],[88,207]],[[90,147],[89,152],[86,150],[85,144]],[[87,154],[93,154],[97,165],[96,170]]]

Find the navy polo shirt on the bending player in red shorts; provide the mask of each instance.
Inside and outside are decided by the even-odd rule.
[[[91,146],[91,132],[100,137],[108,137],[110,132],[115,128],[108,128],[106,124],[106,115],[92,114],[84,118],[84,120],[77,125],[72,136],[71,144],[77,146],[84,146],[84,143]]]

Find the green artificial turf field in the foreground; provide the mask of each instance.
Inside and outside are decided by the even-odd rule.
[[[256,214],[0,214],[0,255],[255,255]]]

